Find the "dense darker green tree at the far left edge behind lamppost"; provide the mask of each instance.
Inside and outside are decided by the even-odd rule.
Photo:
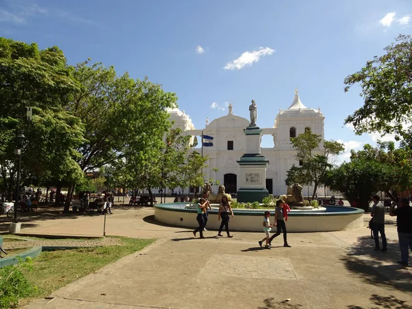
[[[71,147],[81,139],[82,128],[63,109],[72,93],[79,89],[78,83],[73,80],[72,71],[58,47],[39,50],[35,43],[29,45],[0,38],[0,172],[9,200],[16,176],[14,137],[21,131],[28,137],[28,144],[23,149],[22,183],[27,179],[45,181],[47,176],[52,177],[57,170],[62,175],[73,172],[71,160],[76,154],[71,151]],[[27,106],[33,107],[34,115],[45,117],[44,120],[34,117],[30,132],[25,123]],[[52,127],[43,128],[45,122],[52,124]],[[75,123],[76,128],[71,130],[70,126]],[[58,132],[52,128],[58,128]],[[38,130],[47,131],[47,136],[54,140],[62,131],[73,136],[60,139],[63,143],[56,146],[45,140],[43,135],[33,137],[32,133]],[[68,143],[64,144],[66,141]],[[58,155],[53,159],[54,153]],[[39,154],[50,155],[41,157]],[[31,163],[36,160],[46,170],[32,166]],[[52,164],[46,164],[47,161]]]

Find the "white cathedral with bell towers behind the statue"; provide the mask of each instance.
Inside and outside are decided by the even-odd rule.
[[[207,119],[205,128],[196,129],[185,111],[169,108],[168,113],[170,119],[174,121],[174,127],[181,128],[184,134],[200,137],[203,133],[214,137],[213,146],[203,147],[203,155],[209,157],[207,161],[209,167],[204,171],[206,179],[216,179],[220,184],[225,185],[227,193],[236,193],[239,189],[240,172],[240,165],[236,161],[246,150],[246,137],[243,130],[251,123],[249,119],[233,115],[232,108],[229,106],[228,115],[216,118],[210,123]],[[266,169],[266,189],[269,193],[286,194],[286,172],[293,164],[299,166],[290,137],[297,137],[305,130],[310,130],[324,138],[324,119],[320,108],[307,108],[302,104],[299,93],[295,89],[292,104],[285,110],[279,109],[273,128],[262,128],[262,135],[271,135],[274,144],[273,148],[261,148],[262,155],[269,161]],[[214,172],[212,168],[218,168],[218,172]],[[312,194],[312,187],[304,187],[304,195],[307,190]],[[323,187],[319,188],[318,193],[323,195],[323,190]],[[214,187],[214,191],[217,192],[217,187]],[[189,193],[189,188],[184,188],[183,192]]]

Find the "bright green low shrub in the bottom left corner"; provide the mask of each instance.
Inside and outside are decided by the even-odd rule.
[[[0,268],[0,308],[17,308],[19,299],[27,297],[36,290],[27,282],[22,269],[32,269],[32,259],[25,262],[19,259],[19,264]]]

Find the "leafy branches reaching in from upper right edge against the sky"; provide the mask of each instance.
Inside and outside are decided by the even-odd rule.
[[[379,132],[411,140],[412,37],[400,35],[365,67],[345,78],[345,92],[361,87],[364,104],[345,119],[358,134]]]

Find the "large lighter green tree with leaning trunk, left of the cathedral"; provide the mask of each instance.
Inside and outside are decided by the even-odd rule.
[[[144,162],[157,151],[169,128],[165,108],[175,106],[174,93],[163,91],[161,85],[147,78],[133,80],[128,73],[117,76],[114,67],[101,63],[82,62],[73,76],[81,90],[73,95],[67,109],[85,125],[85,141],[78,148],[82,155],[78,163],[84,172],[136,153]],[[69,188],[66,210],[73,187],[74,183]]]

